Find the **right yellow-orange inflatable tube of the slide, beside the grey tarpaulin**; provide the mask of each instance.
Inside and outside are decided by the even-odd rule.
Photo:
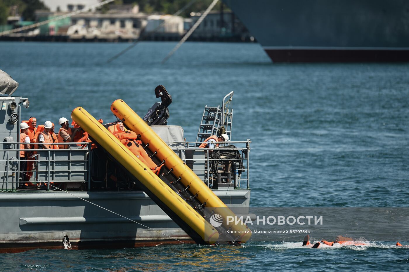
[[[144,143],[149,143],[148,148],[151,152],[157,152],[157,158],[160,161],[165,160],[165,166],[168,169],[173,168],[173,174],[176,177],[181,177],[181,182],[184,186],[189,185],[189,191],[194,195],[197,194],[197,199],[204,203],[205,207],[215,208],[215,213],[220,214],[223,218],[227,216],[235,216],[235,214],[223,203],[220,198],[214,194],[203,181],[172,151],[172,149],[149,127],[142,118],[140,118],[133,109],[131,109],[123,100],[115,100],[111,105],[111,111],[121,120],[130,130],[141,135],[141,140]],[[219,209],[220,208],[220,209]],[[237,241],[245,242],[250,236],[249,228],[244,224],[226,225],[226,229],[231,228],[236,231],[239,238]]]

